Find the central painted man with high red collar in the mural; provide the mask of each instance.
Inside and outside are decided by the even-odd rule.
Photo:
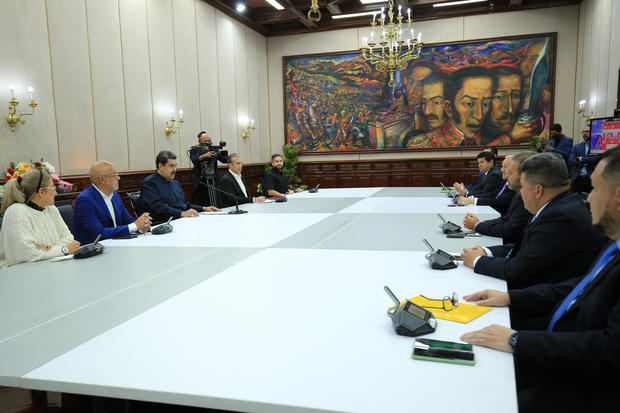
[[[494,82],[487,69],[467,67],[454,72],[445,82],[443,126],[413,138],[434,148],[482,145],[482,122],[491,108]]]

